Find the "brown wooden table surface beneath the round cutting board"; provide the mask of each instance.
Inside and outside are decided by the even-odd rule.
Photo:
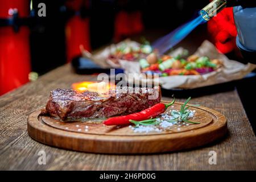
[[[86,154],[49,147],[31,139],[27,134],[28,114],[46,104],[51,90],[70,88],[73,82],[85,80],[96,77],[76,75],[70,65],[64,65],[0,97],[0,169],[256,169],[256,138],[236,90],[192,99],[193,104],[224,114],[229,129],[224,139],[194,150],[154,155]],[[38,153],[42,150],[46,152],[46,165],[38,163]],[[210,151],[217,154],[216,165],[209,164]]]

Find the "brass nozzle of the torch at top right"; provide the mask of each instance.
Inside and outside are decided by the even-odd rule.
[[[209,5],[205,6],[200,14],[205,20],[210,20],[213,16],[216,16],[222,9],[226,7],[226,0],[213,0]]]

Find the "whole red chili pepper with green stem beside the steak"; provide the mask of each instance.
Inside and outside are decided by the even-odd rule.
[[[174,102],[175,99],[170,104],[159,103],[138,113],[106,119],[106,121],[103,123],[104,125],[129,125],[130,119],[135,121],[143,121],[145,119],[155,118],[159,114],[162,114],[169,106],[173,105]]]

